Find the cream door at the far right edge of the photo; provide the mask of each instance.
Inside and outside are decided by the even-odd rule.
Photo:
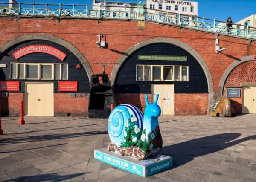
[[[256,113],[256,86],[243,87],[242,113]]]

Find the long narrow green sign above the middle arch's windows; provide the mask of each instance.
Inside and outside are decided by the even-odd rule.
[[[187,61],[183,55],[139,55],[139,60]]]

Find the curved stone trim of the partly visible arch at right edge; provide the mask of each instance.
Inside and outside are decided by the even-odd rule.
[[[230,74],[230,72],[232,72],[233,69],[236,68],[236,66],[238,66],[239,64],[242,64],[246,61],[253,61],[253,60],[255,60],[254,55],[248,55],[248,56],[244,56],[244,57],[240,58],[239,60],[236,60],[232,64],[230,64],[230,66],[228,66],[228,68],[225,70],[225,72],[221,76],[221,80],[220,80],[219,86],[218,86],[218,93],[220,95],[223,95],[224,84],[227,80],[227,77]]]

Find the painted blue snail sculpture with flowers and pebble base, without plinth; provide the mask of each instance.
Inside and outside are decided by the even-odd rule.
[[[137,159],[145,159],[159,153],[163,140],[159,129],[158,116],[161,109],[157,105],[158,94],[154,103],[148,102],[145,94],[145,114],[131,104],[116,107],[108,118],[108,134],[111,142],[108,150]]]

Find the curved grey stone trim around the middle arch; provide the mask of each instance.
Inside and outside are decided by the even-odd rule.
[[[212,105],[214,104],[214,87],[213,87],[213,81],[212,81],[212,75],[211,72],[207,66],[207,64],[205,63],[204,59],[201,57],[201,55],[198,54],[198,52],[195,51],[195,49],[193,49],[192,47],[190,47],[189,45],[187,45],[186,43],[180,41],[180,40],[176,40],[173,38],[152,38],[149,40],[144,40],[141,43],[138,43],[134,46],[132,46],[131,48],[129,48],[124,55],[122,55],[119,60],[116,62],[113,71],[111,73],[111,85],[113,86],[116,80],[116,75],[119,71],[119,68],[122,66],[122,64],[125,62],[125,60],[128,58],[129,55],[131,55],[133,52],[135,52],[137,49],[140,49],[144,46],[147,46],[149,44],[153,44],[153,43],[169,43],[169,44],[173,44],[176,46],[181,47],[182,49],[186,50],[187,52],[189,52],[197,61],[198,63],[201,65],[205,77],[207,79],[207,84],[208,84],[208,92],[209,92],[209,98],[208,98],[208,112],[209,109],[211,109]]]

